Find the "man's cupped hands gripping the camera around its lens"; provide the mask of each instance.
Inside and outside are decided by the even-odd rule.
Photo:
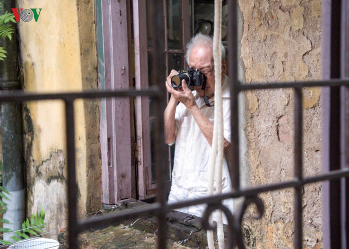
[[[188,88],[185,80],[182,81],[181,88],[173,88],[171,84],[171,78],[173,75],[177,75],[178,72],[176,70],[172,70],[170,75],[166,79],[166,89],[169,93],[171,93],[171,99],[175,99],[185,105],[188,110],[191,110],[194,106],[196,106],[195,98],[192,91]]]

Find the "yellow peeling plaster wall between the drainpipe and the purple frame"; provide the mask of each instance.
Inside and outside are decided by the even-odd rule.
[[[97,88],[94,1],[17,0],[17,8],[42,8],[38,22],[20,22],[23,89],[67,92]],[[86,18],[88,16],[88,18]],[[102,207],[98,101],[75,100],[78,214]],[[27,216],[43,206],[46,231],[67,224],[64,103],[24,103]],[[59,221],[59,222],[55,222]],[[53,235],[57,236],[57,235]]]

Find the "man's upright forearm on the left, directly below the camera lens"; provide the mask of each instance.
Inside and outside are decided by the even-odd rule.
[[[165,125],[165,143],[170,144],[176,139],[174,116],[176,114],[176,107],[178,101],[170,98],[168,105],[164,111],[164,125]]]

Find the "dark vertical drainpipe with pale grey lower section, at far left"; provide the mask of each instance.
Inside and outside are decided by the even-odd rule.
[[[11,12],[15,8],[15,0],[0,0],[3,9]],[[0,61],[0,90],[10,92],[21,89],[18,81],[18,50],[17,33],[12,34],[12,40],[0,39],[0,46],[5,47],[7,58]],[[3,219],[11,224],[3,224],[12,230],[22,229],[25,219],[25,190],[23,176],[23,134],[22,134],[22,104],[0,103],[1,118],[1,161],[2,161],[2,186],[9,191],[10,200],[7,203],[7,211]],[[10,236],[5,234],[4,240],[11,241]]]

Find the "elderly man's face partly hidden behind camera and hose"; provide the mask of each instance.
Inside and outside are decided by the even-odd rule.
[[[202,45],[196,45],[193,47],[189,55],[189,67],[199,69],[201,73],[206,75],[205,94],[207,98],[212,97],[215,93],[215,70],[212,49]],[[222,61],[222,80],[226,74],[227,64],[225,61]],[[201,90],[201,86],[194,86],[194,89],[199,97],[202,98],[203,90]]]

